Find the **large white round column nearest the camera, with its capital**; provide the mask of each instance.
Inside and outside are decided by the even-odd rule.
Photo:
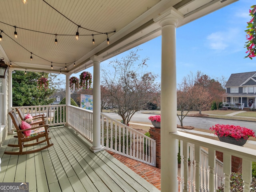
[[[182,18],[169,10],[155,21],[162,28],[161,65],[161,191],[178,191],[178,140],[176,92],[176,26]]]

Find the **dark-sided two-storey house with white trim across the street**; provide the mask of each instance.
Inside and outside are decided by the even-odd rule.
[[[255,108],[256,71],[231,74],[225,88],[223,107]]]

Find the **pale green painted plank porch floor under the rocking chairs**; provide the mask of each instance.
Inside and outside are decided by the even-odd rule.
[[[54,145],[45,150],[6,155],[4,150],[16,150],[7,147],[17,142],[14,135],[8,135],[0,149],[0,182],[28,182],[34,192],[159,192],[108,152],[94,154],[91,144],[71,128],[51,128]]]

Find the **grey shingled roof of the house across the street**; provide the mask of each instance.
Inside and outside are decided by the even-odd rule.
[[[246,82],[248,82],[249,80],[254,79],[253,76],[255,74],[256,74],[256,71],[231,74],[225,87],[242,86],[243,84],[246,84]],[[254,85],[256,85],[256,82],[254,83]]]

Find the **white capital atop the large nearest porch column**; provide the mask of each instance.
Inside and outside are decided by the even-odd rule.
[[[177,27],[178,21],[182,19],[184,19],[184,15],[171,7],[162,12],[159,17],[154,18],[154,22],[158,22],[160,27],[164,27],[166,25],[175,25]]]

